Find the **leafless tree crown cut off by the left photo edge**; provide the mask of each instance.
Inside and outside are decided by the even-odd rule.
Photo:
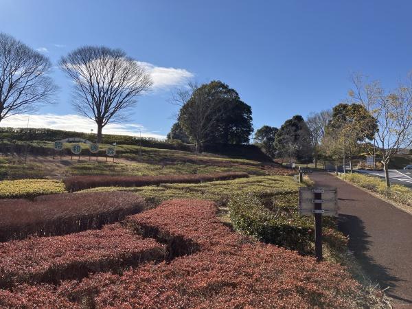
[[[51,69],[47,57],[0,32],[0,121],[52,102],[57,88]]]

